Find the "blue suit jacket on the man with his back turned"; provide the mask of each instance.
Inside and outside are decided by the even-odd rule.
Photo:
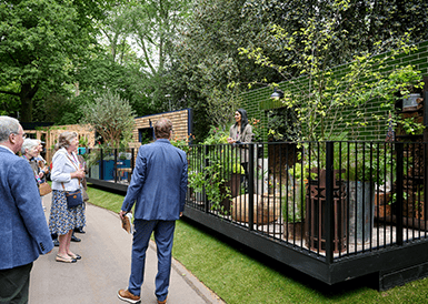
[[[122,210],[135,219],[175,221],[185,210],[187,192],[186,153],[168,140],[140,146]]]

